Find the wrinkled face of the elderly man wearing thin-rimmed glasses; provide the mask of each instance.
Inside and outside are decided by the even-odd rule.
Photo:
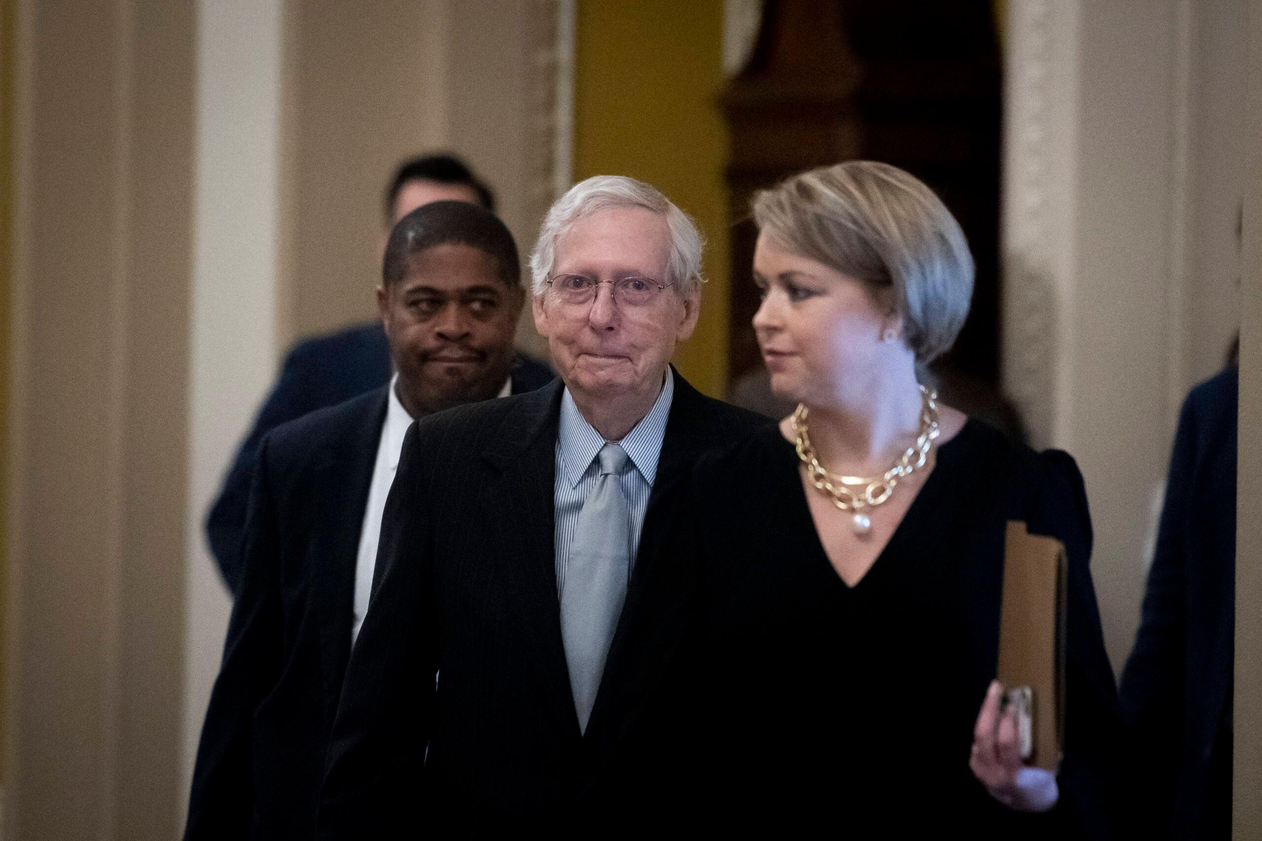
[[[596,281],[647,277],[670,282],[670,229],[644,208],[597,211],[575,222],[557,242],[551,276],[582,275]],[[618,301],[599,282],[586,304],[560,300],[546,289],[534,298],[535,327],[548,339],[553,363],[570,392],[599,400],[620,392],[655,393],[675,344],[697,325],[697,295],[676,286],[651,303]]]

